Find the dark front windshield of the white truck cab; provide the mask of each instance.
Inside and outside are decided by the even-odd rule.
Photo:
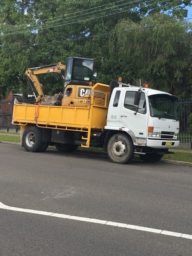
[[[166,119],[178,120],[176,114],[176,102],[177,97],[171,95],[160,94],[152,95],[148,97],[150,106],[150,115]]]

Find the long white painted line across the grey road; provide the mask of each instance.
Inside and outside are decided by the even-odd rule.
[[[27,212],[27,213],[32,213],[32,214],[40,214],[40,215],[46,215],[46,216],[51,216],[51,217],[56,217],[56,218],[64,218],[64,219],[68,219],[68,220],[86,221],[86,222],[90,222],[90,223],[109,225],[109,226],[113,226],[113,227],[129,228],[129,229],[134,229],[134,230],[140,230],[143,232],[150,232],[150,233],[156,233],[156,234],[161,234],[161,235],[166,235],[166,236],[175,236],[175,237],[181,237],[181,238],[186,238],[186,239],[192,239],[192,235],[189,235],[189,234],[177,233],[177,232],[161,230],[161,229],[156,229],[156,228],[140,227],[140,226],[136,226],[136,225],[130,225],[130,224],[126,224],[126,223],[119,223],[119,222],[113,222],[113,221],[107,221],[107,220],[84,218],[84,217],[60,214],[60,213],[55,213],[55,212],[45,212],[45,211],[36,211],[36,210],[31,210],[31,209],[22,209],[22,208],[4,205],[1,202],[0,202],[0,209],[10,210],[10,211]]]

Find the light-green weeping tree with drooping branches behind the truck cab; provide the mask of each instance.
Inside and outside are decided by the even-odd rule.
[[[191,94],[192,34],[189,22],[169,15],[148,15],[141,22],[120,21],[111,36],[111,54],[122,69],[150,86],[180,95]],[[130,79],[130,77],[126,77]]]

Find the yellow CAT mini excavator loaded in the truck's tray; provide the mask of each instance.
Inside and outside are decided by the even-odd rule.
[[[63,93],[58,93],[52,97],[44,95],[43,85],[38,80],[38,75],[50,73],[60,74],[64,84]],[[28,77],[31,89],[33,90],[34,86],[38,93],[36,96],[33,90],[36,104],[83,107],[90,104],[88,92],[93,81],[93,59],[70,57],[67,58],[66,65],[59,62],[27,68],[26,76]]]

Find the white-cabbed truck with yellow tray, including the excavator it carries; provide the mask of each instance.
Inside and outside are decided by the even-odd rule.
[[[60,104],[49,104],[42,84],[30,77],[65,71]],[[53,71],[54,70],[54,71]],[[121,80],[92,85],[93,60],[72,57],[61,63],[28,68],[37,86],[35,104],[15,102],[12,124],[20,125],[21,145],[29,152],[44,152],[54,145],[62,152],[97,147],[113,163],[129,163],[138,154],[156,162],[179,146],[177,97],[148,86],[132,86]],[[62,75],[63,76],[63,75]],[[40,86],[40,87],[39,87]]]

